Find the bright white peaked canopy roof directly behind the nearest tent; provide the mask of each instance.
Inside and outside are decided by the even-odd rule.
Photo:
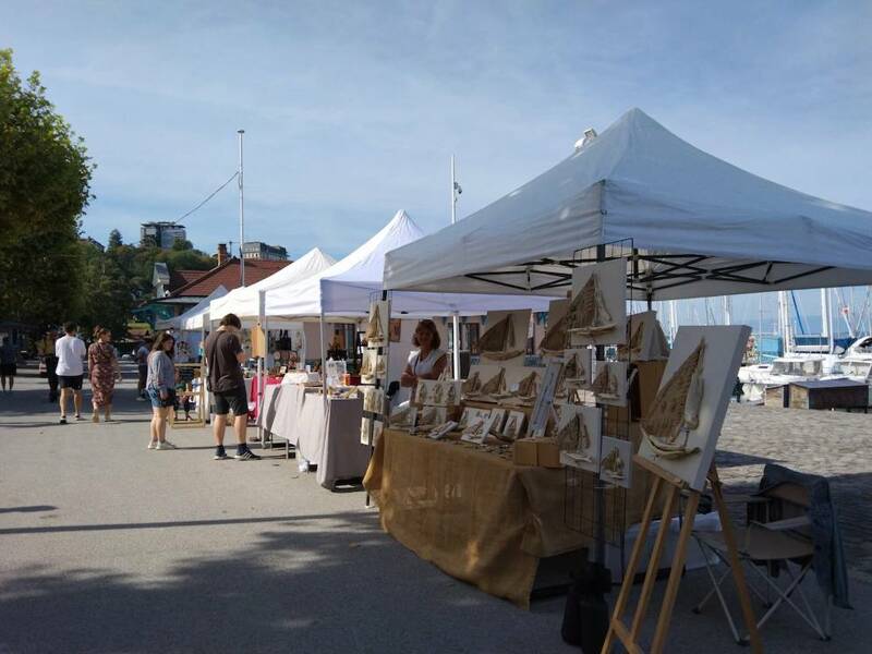
[[[292,286],[266,293],[266,315],[286,318],[364,317],[370,301],[383,289],[385,254],[417,241],[424,232],[399,210],[363,245],[326,270]],[[560,295],[559,291],[553,293]],[[445,293],[393,293],[391,313],[410,317],[482,315],[492,308],[547,311],[547,300],[526,295],[457,295]]]

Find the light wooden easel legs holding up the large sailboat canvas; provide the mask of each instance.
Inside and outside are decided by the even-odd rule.
[[[661,555],[666,544],[666,535],[669,533],[668,521],[675,509],[681,492],[688,493],[687,506],[685,507],[685,518],[681,524],[681,531],[678,536],[678,545],[673,557],[671,569],[669,570],[669,580],[666,584],[666,593],[663,597],[661,611],[657,617],[657,626],[654,631],[654,640],[651,644],[651,653],[659,654],[666,647],[666,637],[669,630],[669,620],[673,615],[673,607],[675,606],[676,597],[678,596],[678,584],[681,581],[681,572],[685,568],[685,559],[687,556],[688,542],[690,541],[691,532],[693,531],[693,519],[697,514],[697,507],[700,504],[700,492],[692,491],[688,484],[673,475],[671,473],[663,470],[656,463],[652,463],[647,459],[633,456],[633,462],[651,472],[654,475],[654,484],[651,488],[651,495],[645,505],[645,512],[642,517],[642,523],[639,528],[639,535],[637,536],[635,545],[633,546],[632,555],[627,570],[623,574],[623,583],[620,586],[618,601],[615,604],[615,610],[611,614],[609,621],[608,633],[603,643],[602,654],[608,654],[611,645],[615,644],[615,638],[623,644],[630,654],[642,654],[643,650],[639,644],[639,635],[642,630],[642,622],[645,619],[647,611],[647,604],[651,600],[651,593],[654,590],[654,582],[657,578],[657,567],[659,565]],[[751,598],[748,594],[748,585],[744,580],[744,572],[739,562],[738,550],[736,547],[736,536],[732,533],[732,523],[727,512],[726,505],[724,504],[724,495],[720,491],[720,480],[717,476],[717,469],[714,463],[708,471],[708,483],[712,485],[712,494],[714,495],[717,512],[720,518],[720,529],[724,532],[724,541],[727,546],[727,557],[729,559],[730,568],[732,569],[732,579],[736,583],[736,590],[739,595],[739,604],[741,605],[742,616],[744,617],[744,626],[748,629],[750,637],[751,650],[754,654],[763,651],[760,643],[760,635],[756,630],[756,619],[754,618],[753,609],[751,608]],[[657,530],[657,537],[654,542],[654,549],[651,552],[649,559],[647,570],[645,571],[645,579],[642,582],[642,591],[639,595],[639,602],[635,606],[635,614],[630,627],[622,620],[623,611],[627,608],[632,592],[633,578],[635,570],[639,568],[639,562],[642,558],[642,552],[645,548],[645,541],[647,540],[647,532],[651,528],[651,522],[654,517],[654,506],[657,501],[657,495],[661,491],[666,491],[666,498],[663,502],[663,519],[661,528]]]

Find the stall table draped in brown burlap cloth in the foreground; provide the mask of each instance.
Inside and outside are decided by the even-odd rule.
[[[627,495],[628,525],[642,513],[647,479],[638,482]],[[590,543],[566,524],[564,470],[514,465],[468,444],[385,429],[364,486],[382,526],[400,543],[522,607],[529,607],[543,558]]]

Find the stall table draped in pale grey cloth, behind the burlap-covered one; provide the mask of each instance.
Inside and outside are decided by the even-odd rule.
[[[264,389],[264,411],[258,425],[286,439],[302,457],[317,465],[316,479],[325,488],[337,481],[360,479],[366,472],[368,448],[360,443],[363,399],[328,398],[320,388],[296,384]]]

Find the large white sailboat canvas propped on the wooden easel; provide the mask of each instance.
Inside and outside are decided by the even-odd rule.
[[[680,327],[639,455],[702,491],[751,328]]]

